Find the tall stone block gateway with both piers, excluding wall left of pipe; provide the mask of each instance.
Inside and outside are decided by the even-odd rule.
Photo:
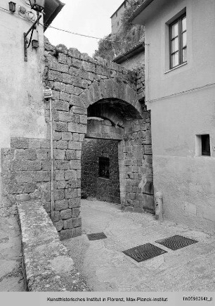
[[[45,83],[53,89],[54,100],[54,224],[61,238],[82,234],[79,209],[82,143],[87,134],[87,117],[98,109],[100,117],[112,122],[112,134],[117,134],[116,129],[123,131],[117,135],[121,140],[122,208],[152,211],[150,113],[141,105],[143,96],[138,94],[143,92],[140,86],[143,76],[138,80],[135,73],[120,65],[89,58],[63,45],[46,44],[45,58]]]

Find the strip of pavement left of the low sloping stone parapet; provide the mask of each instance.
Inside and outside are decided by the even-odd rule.
[[[6,291],[25,291],[16,217],[0,217],[0,292]]]

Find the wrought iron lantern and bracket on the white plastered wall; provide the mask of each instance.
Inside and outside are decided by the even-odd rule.
[[[39,20],[41,18],[41,11],[43,11],[44,6],[45,6],[45,0],[29,0],[30,1],[30,6],[34,11],[37,11],[37,20],[34,21],[32,26],[30,27],[30,30],[28,30],[26,33],[24,33],[24,56],[25,56],[25,62],[27,62],[27,48],[30,46],[32,42],[32,36],[33,32],[36,28],[36,25],[39,25]],[[32,32],[31,32],[32,31]],[[27,35],[30,34],[30,41],[28,42]]]

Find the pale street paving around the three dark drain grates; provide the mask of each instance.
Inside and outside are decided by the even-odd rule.
[[[89,241],[86,236],[102,231],[107,239]],[[214,291],[215,236],[89,200],[82,200],[82,233],[64,244],[93,291]],[[179,250],[155,243],[176,234],[198,243]],[[144,243],[167,253],[141,263],[122,253]]]

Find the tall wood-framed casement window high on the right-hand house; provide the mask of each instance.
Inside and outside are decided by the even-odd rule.
[[[170,69],[187,62],[187,23],[186,15],[169,25]]]

